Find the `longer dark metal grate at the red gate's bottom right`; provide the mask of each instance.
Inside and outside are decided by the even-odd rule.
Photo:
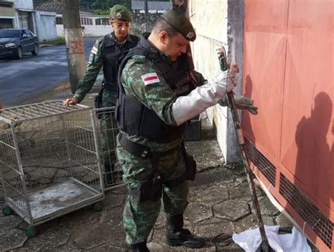
[[[283,174],[280,174],[280,194],[295,208],[326,246],[332,248],[333,222],[330,222]]]

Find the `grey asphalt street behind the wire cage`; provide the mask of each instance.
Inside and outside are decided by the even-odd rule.
[[[84,39],[86,61],[97,38]],[[33,102],[68,80],[65,45],[43,47],[38,56],[30,53],[23,59],[0,58],[0,101],[4,107]]]

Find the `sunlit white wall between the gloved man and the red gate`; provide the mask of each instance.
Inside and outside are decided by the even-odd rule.
[[[216,49],[223,45],[228,50],[228,0],[191,0],[188,3],[190,20],[197,33],[197,39],[192,43],[194,66],[209,79],[219,70]],[[217,140],[225,162],[240,161],[237,138],[228,109],[216,105],[207,109],[206,113],[211,124],[216,127]]]

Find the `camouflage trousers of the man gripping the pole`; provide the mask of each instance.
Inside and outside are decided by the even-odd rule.
[[[151,176],[153,168],[151,160],[143,160],[130,154],[120,143],[117,143],[116,155],[122,165],[123,181],[128,188],[137,188],[142,181]],[[169,155],[159,159],[159,172],[163,181],[170,181],[181,176],[185,172],[185,160],[181,150],[175,150]],[[187,195],[189,192],[187,181],[168,188],[163,185],[162,196],[159,200],[147,200],[138,203],[128,196],[123,211],[123,224],[125,229],[125,241],[128,245],[138,244],[147,240],[149,232],[154,227],[159,215],[161,204],[168,215],[179,215],[187,208]]]

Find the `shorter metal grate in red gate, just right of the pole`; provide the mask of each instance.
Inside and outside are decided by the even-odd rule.
[[[249,160],[253,162],[253,164],[256,165],[256,167],[260,170],[262,174],[268,179],[268,181],[275,186],[276,181],[276,167],[271,164],[269,160],[267,160],[264,155],[257,150],[252,143],[249,142],[249,140],[245,139],[246,146],[247,146],[247,154],[249,157]]]

